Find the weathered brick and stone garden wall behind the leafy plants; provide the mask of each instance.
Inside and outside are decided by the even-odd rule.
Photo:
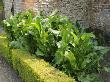
[[[12,8],[12,2],[14,8]],[[55,8],[72,21],[79,20],[83,27],[99,28],[110,32],[109,0],[4,0],[5,17],[31,9],[50,13]]]

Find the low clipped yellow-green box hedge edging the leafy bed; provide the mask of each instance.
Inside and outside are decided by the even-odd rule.
[[[10,54],[6,37],[1,35],[0,53],[25,82],[76,82],[43,59],[19,49],[13,49],[11,52]]]

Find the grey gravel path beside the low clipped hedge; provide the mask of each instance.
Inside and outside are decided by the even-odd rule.
[[[0,56],[0,82],[22,82],[2,56]]]

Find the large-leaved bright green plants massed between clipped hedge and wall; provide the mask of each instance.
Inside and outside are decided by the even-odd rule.
[[[101,70],[99,62],[108,51],[97,46],[95,35],[86,33],[78,21],[72,24],[57,11],[49,16],[19,13],[4,20],[4,29],[11,47],[44,58],[79,81]]]

